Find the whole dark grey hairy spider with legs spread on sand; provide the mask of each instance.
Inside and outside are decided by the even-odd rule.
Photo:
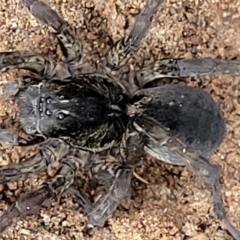
[[[211,192],[217,218],[240,239],[223,206],[220,168],[209,161],[225,134],[219,106],[199,88],[154,86],[161,78],[235,74],[239,62],[161,59],[127,76],[122,74],[162,2],[148,0],[129,34],[112,46],[95,71],[84,72],[82,45],[74,27],[46,3],[21,0],[34,17],[51,27],[64,60],[55,62],[33,52],[0,53],[1,72],[26,69],[35,73],[20,76],[3,89],[5,99],[18,103],[19,122],[28,137],[1,129],[0,140],[17,146],[37,145],[32,157],[0,167],[0,183],[27,179],[54,162],[59,169],[2,213],[0,232],[15,218],[36,213],[64,191],[76,197],[90,223],[103,227],[128,194],[134,169],[146,152],[198,174]],[[117,161],[107,161],[109,156]],[[95,204],[71,187],[80,167],[108,185],[107,193]]]

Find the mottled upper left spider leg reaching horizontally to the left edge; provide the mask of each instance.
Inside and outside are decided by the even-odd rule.
[[[27,51],[0,52],[0,72],[13,69],[29,70],[47,79],[65,79],[71,76],[64,64],[54,63],[41,54]]]

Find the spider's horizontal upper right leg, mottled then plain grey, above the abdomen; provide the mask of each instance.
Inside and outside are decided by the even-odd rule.
[[[160,78],[198,77],[211,74],[239,76],[240,61],[213,58],[161,59],[137,71],[134,83],[143,88]]]

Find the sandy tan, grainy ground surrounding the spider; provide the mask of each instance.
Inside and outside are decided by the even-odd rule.
[[[81,36],[87,60],[106,53],[112,40],[127,32],[126,26],[142,7],[141,0],[46,0],[73,24]],[[230,4],[231,3],[231,4]],[[157,58],[218,57],[240,59],[239,0],[168,0],[159,11],[141,49],[134,57],[146,64]],[[56,57],[57,41],[46,26],[27,14],[18,1],[0,1],[0,51],[31,50]],[[58,52],[58,51],[57,51]],[[137,65],[133,65],[133,67]],[[1,86],[19,76],[17,71],[0,75]],[[240,100],[238,79],[212,76],[186,79],[189,85],[209,92],[221,106],[226,121],[224,143],[211,160],[222,167],[222,193],[227,213],[240,228]],[[0,99],[0,124],[15,122],[12,102]],[[16,162],[28,149],[0,146],[0,164]],[[138,174],[149,185],[133,180],[132,198],[123,204],[105,228],[93,228],[68,194],[35,216],[18,219],[1,239],[155,239],[230,240],[211,206],[209,192],[185,168],[173,167],[146,156]],[[0,208],[41,184],[46,174],[0,186]],[[94,193],[93,189],[86,192]]]

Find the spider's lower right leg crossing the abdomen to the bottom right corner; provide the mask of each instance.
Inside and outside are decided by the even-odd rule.
[[[194,149],[187,147],[177,137],[172,136],[167,129],[159,123],[154,122],[151,118],[137,118],[135,120],[135,127],[140,132],[145,132],[149,138],[153,138],[158,142],[159,148],[165,147],[168,149],[162,153],[164,161],[166,160],[165,162],[169,162],[167,161],[168,158],[178,157],[182,161],[184,160],[186,165],[201,177],[212,195],[213,209],[217,218],[233,237],[240,239],[240,231],[232,225],[226,216],[219,182],[220,167],[212,164]]]

